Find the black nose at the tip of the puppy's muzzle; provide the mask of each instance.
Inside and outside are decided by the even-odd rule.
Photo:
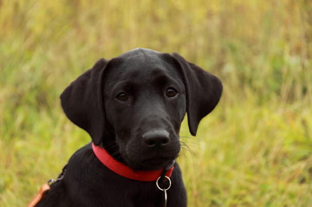
[[[146,147],[160,148],[169,143],[169,132],[165,130],[146,132],[142,138]]]

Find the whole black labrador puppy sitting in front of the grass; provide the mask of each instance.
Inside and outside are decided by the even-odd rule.
[[[176,53],[138,48],[98,60],[61,95],[65,114],[93,143],[72,155],[63,179],[53,183],[36,206],[164,206],[164,191],[156,187],[156,179],[144,177],[158,173],[157,178],[177,158],[186,112],[195,136],[199,121],[215,108],[221,94],[216,76]],[[111,165],[143,173],[144,181],[115,172],[95,149],[107,152]],[[186,206],[179,166],[170,169],[167,206]]]

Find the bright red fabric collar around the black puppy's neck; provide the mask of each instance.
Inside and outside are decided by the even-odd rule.
[[[154,171],[134,171],[131,168],[127,167],[127,165],[115,160],[111,155],[109,155],[106,150],[103,148],[96,146],[92,142],[92,149],[97,158],[111,171],[121,175],[123,177],[139,180],[139,181],[156,181],[163,168]],[[170,177],[174,166],[172,166],[166,173],[167,177]]]

